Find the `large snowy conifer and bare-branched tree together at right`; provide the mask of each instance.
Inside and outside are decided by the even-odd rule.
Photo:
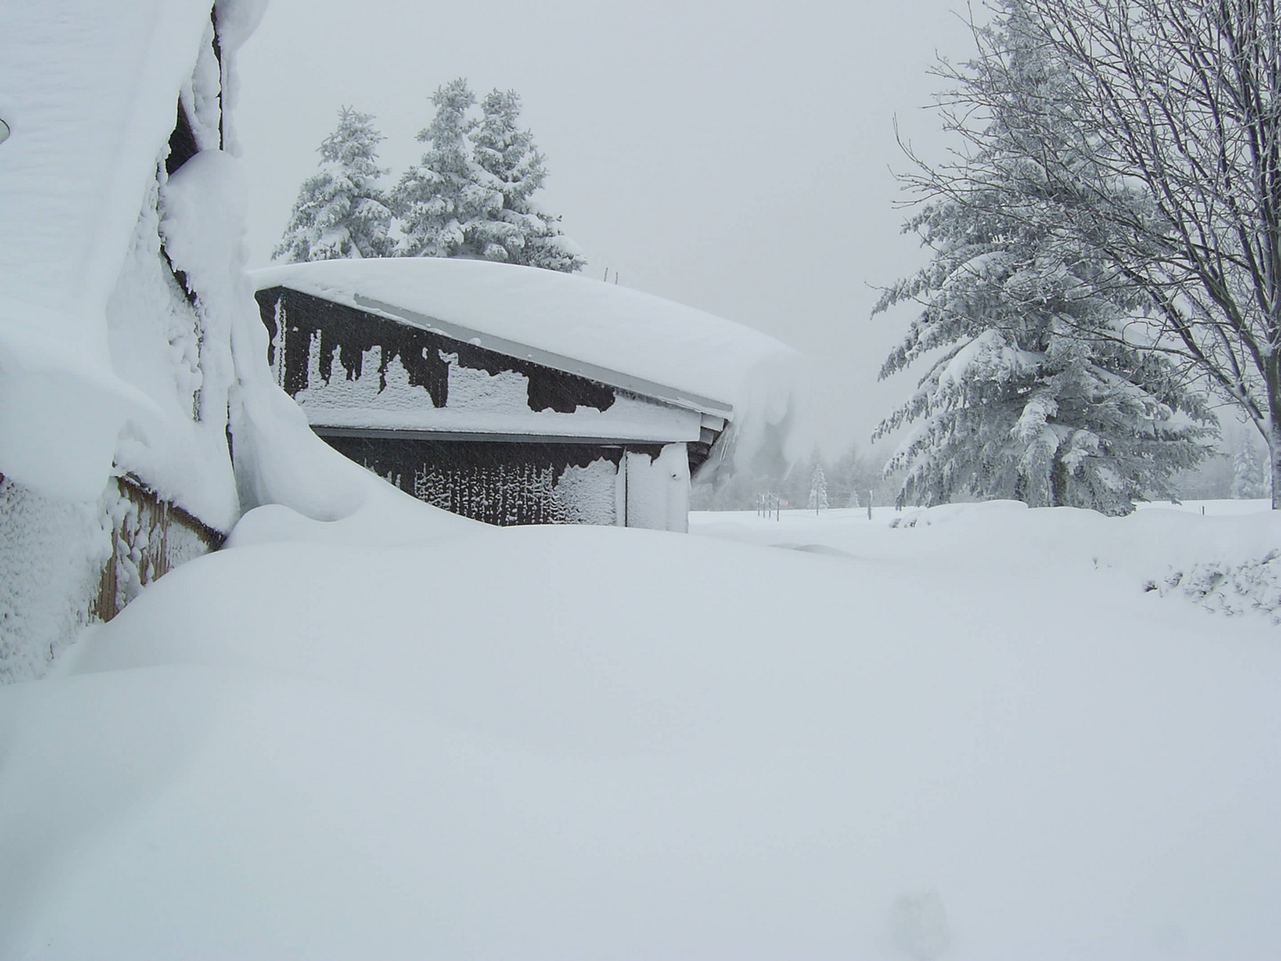
[[[877,436],[898,501],[1125,514],[1213,452],[1208,393],[1267,443],[1281,506],[1281,13],[1271,0],[999,0],[938,69],[961,141],[906,147],[931,250],[876,311],[924,366]],[[1246,446],[1243,457],[1253,456]],[[1253,470],[1243,464],[1236,473]]]

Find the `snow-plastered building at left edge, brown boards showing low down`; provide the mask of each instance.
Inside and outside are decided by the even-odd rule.
[[[224,109],[261,10],[0,5],[0,679],[241,514],[228,427],[270,379]]]

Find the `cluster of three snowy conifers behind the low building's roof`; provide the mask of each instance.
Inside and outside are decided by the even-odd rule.
[[[534,195],[546,158],[520,126],[520,96],[491,91],[479,104],[462,78],[432,95],[436,115],[418,133],[421,159],[391,190],[378,165],[383,136],[351,108],[320,144],[319,170],[304,181],[277,260],[474,258],[573,273],[582,251]]]

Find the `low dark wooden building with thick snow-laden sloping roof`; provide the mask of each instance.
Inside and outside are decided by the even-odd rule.
[[[751,455],[779,454],[796,415],[789,349],[616,284],[438,258],[252,278],[311,428],[477,520],[684,530],[692,473],[744,432]]]

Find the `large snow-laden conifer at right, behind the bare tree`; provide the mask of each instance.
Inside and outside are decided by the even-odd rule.
[[[1002,55],[972,67],[994,88],[1011,100],[1057,101],[1065,77],[1022,42],[1017,0],[989,40]],[[886,290],[875,313],[907,301],[924,308],[883,378],[926,357],[930,366],[876,436],[916,424],[885,468],[907,472],[899,504],[974,495],[1125,514],[1138,498],[1173,496],[1171,475],[1208,454],[1202,439],[1213,418],[1161,354],[1127,340],[1141,295],[1100,246],[1058,229],[1058,208],[1038,195],[1022,149],[1024,115],[997,111],[971,132],[974,149],[944,190],[939,178],[916,181],[931,199],[904,229],[917,231],[934,258]],[[1038,131],[1041,142],[1047,136]],[[1126,190],[1088,161],[1070,124],[1054,146],[1079,151],[1081,190]]]

